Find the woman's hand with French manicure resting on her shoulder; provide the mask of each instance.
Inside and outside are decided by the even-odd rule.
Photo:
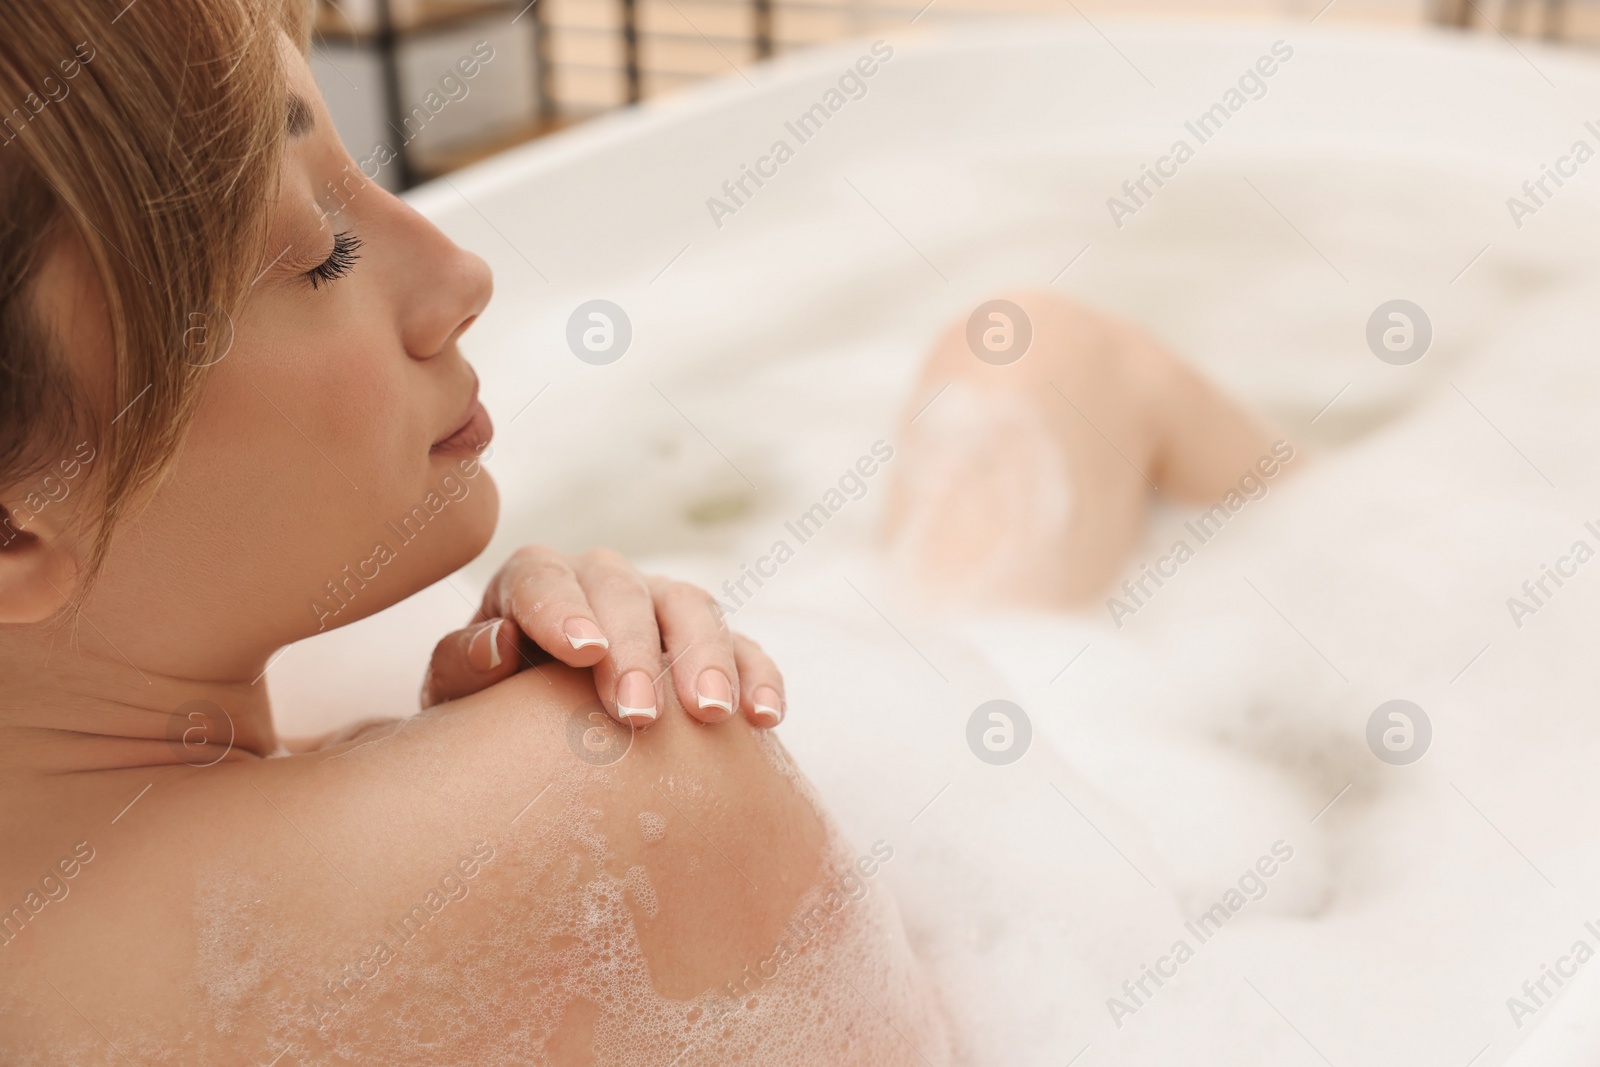
[[[784,717],[782,675],[755,641],[728,629],[710,593],[646,577],[605,549],[563,555],[539,545],[514,552],[474,622],[434,649],[422,707],[549,657],[592,667],[606,712],[634,726],[666,707],[667,673],[678,704],[702,723],[736,710],[760,728]]]

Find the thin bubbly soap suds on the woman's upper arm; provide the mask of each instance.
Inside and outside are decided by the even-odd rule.
[[[814,805],[776,739],[763,741],[773,769]],[[288,1048],[306,1065],[371,1062],[374,1048],[386,1067],[950,1062],[938,993],[898,907],[880,880],[858,877],[856,849],[826,819],[824,867],[774,934],[779,944],[698,997],[658,993],[635,921],[662,907],[648,869],[619,870],[597,829],[594,774],[568,769],[515,838],[494,843],[494,864],[523,872],[514,891],[478,899],[477,910],[453,905],[323,1025],[290,993],[320,989],[338,953],[229,929],[227,917],[248,917],[262,897],[270,912],[274,886],[238,881],[197,899],[218,917],[200,971],[219,1035],[243,1030],[269,1049],[262,1061]],[[685,798],[704,789],[683,776],[662,785]],[[642,814],[656,814],[642,827],[666,825],[659,813]],[[150,1062],[182,1062],[173,1049],[142,1051]]]

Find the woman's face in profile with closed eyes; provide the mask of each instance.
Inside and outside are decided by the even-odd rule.
[[[147,672],[248,680],[274,648],[467,563],[499,507],[475,461],[488,416],[456,347],[490,299],[488,266],[362,178],[304,58],[288,38],[280,50],[306,110],[291,107],[267,262],[234,323],[194,318],[205,334],[190,347],[218,360],[198,416],[85,605]],[[42,301],[70,358],[104,378],[91,277],[69,243]],[[134,402],[123,418],[138,416]]]

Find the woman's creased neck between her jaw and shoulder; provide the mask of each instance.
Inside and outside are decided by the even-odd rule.
[[[278,739],[264,669],[157,672],[83,616],[0,627],[0,768],[62,774],[267,757]]]

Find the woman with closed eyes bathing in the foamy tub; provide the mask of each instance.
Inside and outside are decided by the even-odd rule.
[[[778,670],[699,590],[526,549],[427,710],[275,734],[277,649],[490,539],[456,347],[486,269],[336,189],[301,3],[0,14],[0,1059],[946,1062],[886,846],[837,840],[765,733]],[[1157,480],[1190,485],[1176,434],[1246,426],[1122,328],[1029,307],[1024,366]],[[931,376],[1002,381],[950,350]],[[1144,475],[1040,440],[1101,472],[1091,539],[1123,536]],[[915,485],[902,515],[949,504]],[[1120,561],[1085,558],[1058,593]]]

